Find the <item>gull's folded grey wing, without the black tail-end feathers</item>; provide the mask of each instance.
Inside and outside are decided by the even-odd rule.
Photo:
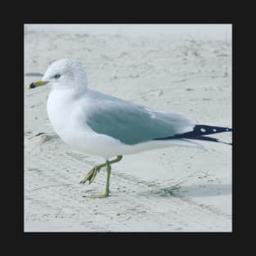
[[[191,132],[195,126],[183,115],[157,112],[115,97],[94,102],[86,122],[93,131],[128,145]]]

